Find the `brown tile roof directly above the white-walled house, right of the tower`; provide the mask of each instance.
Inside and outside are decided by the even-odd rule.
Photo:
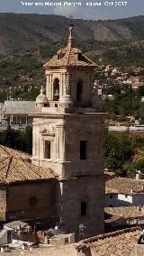
[[[144,180],[134,178],[112,178],[105,182],[105,193],[144,193]]]

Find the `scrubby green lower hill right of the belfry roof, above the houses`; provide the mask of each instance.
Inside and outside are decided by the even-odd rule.
[[[113,66],[141,66],[144,67],[144,40],[121,41],[119,44],[101,47],[100,50],[90,50],[85,52],[90,59],[96,63]]]

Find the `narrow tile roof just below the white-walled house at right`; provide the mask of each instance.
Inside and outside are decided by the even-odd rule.
[[[105,207],[105,213],[123,218],[144,217],[144,209],[137,206]]]

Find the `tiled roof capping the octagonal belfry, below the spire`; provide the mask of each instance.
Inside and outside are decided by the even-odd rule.
[[[80,54],[80,59],[78,55]],[[61,56],[58,58],[58,56]],[[90,67],[95,68],[97,65],[90,59],[88,59],[81,50],[77,48],[64,48],[58,50],[57,54],[52,58],[49,59],[44,65],[44,69],[48,68],[58,68],[58,67]]]

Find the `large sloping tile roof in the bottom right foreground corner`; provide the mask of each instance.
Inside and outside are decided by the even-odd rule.
[[[83,247],[85,248],[85,244],[87,243],[90,246],[92,255],[135,256],[136,242],[139,240],[140,234],[139,227],[100,234],[82,241],[76,250],[83,250]]]

